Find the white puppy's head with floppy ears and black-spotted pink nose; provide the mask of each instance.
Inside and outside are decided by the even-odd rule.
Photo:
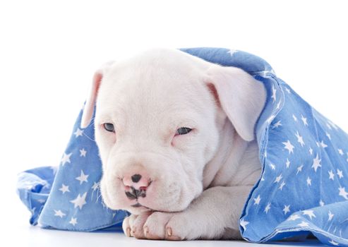
[[[95,112],[101,191],[112,209],[184,210],[203,190],[224,121],[253,140],[265,90],[244,71],[156,49],[95,73],[82,126]]]

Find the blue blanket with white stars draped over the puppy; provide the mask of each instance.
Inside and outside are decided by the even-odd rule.
[[[219,48],[181,50],[242,68],[267,89],[255,128],[262,174],[241,212],[244,239],[304,240],[312,233],[325,244],[348,246],[347,133],[299,97],[258,56]],[[128,214],[102,203],[94,124],[80,128],[81,115],[82,111],[58,168],[40,167],[18,175],[18,195],[32,212],[31,224],[93,231],[120,226]]]

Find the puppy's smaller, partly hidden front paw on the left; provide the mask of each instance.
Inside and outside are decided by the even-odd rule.
[[[126,236],[134,236],[136,239],[146,239],[143,226],[151,212],[144,212],[140,215],[130,215],[124,219],[122,229]]]

